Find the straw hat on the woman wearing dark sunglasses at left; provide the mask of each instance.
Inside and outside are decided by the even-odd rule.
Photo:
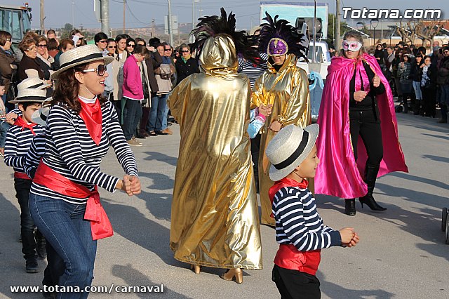
[[[51,79],[58,79],[59,74],[64,72],[66,69],[97,60],[103,60],[105,65],[108,65],[112,62],[112,60],[114,60],[114,58],[111,56],[103,56],[96,45],[76,47],[60,55],[60,69],[51,74]]]

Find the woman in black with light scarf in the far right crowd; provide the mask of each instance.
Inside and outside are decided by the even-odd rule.
[[[424,63],[420,66],[420,79],[422,91],[422,116],[435,117],[436,115],[436,66],[431,63],[431,57],[424,56]]]

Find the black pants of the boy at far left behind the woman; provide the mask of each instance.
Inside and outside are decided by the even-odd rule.
[[[43,239],[39,230],[36,231],[36,236],[34,236],[36,226],[28,208],[31,184],[32,180],[14,179],[15,197],[17,197],[20,206],[20,235],[22,237],[22,253],[25,259],[33,258],[36,255],[36,240]]]

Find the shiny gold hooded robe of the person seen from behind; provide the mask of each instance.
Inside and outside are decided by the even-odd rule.
[[[180,125],[170,248],[185,263],[262,269],[250,142],[250,85],[227,35],[206,41],[201,72],[168,98]]]

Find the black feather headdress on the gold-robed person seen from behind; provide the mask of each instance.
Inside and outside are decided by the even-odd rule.
[[[256,58],[259,57],[259,53],[257,48],[254,47],[257,45],[257,38],[246,34],[245,31],[236,31],[236,18],[234,13],[229,13],[228,17],[225,8],[221,8],[220,12],[220,17],[218,15],[212,15],[198,19],[200,22],[191,32],[195,36],[192,51],[196,50],[199,54],[209,37],[216,36],[217,34],[227,34],[234,41],[237,54],[242,55],[246,60],[257,63]]]

